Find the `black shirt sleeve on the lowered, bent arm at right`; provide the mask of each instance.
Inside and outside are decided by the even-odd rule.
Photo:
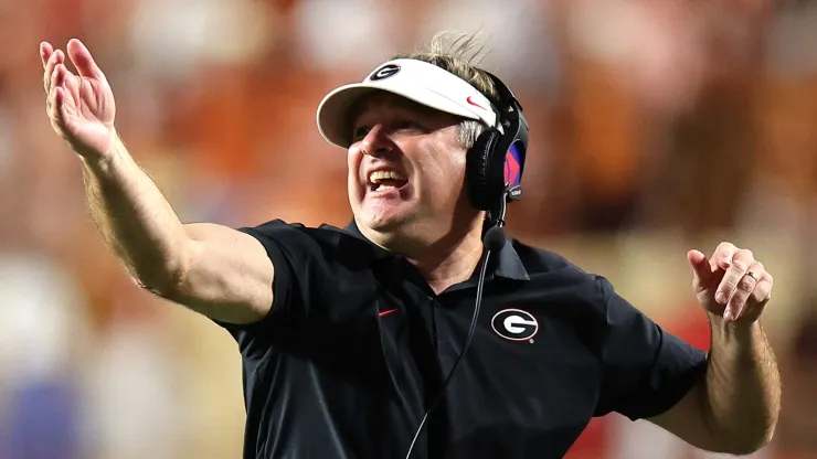
[[[597,277],[606,321],[604,381],[596,416],[617,412],[632,420],[657,416],[703,377],[707,353],[662,330]]]

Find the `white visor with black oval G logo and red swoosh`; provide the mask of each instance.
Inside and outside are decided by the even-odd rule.
[[[465,79],[427,62],[399,58],[380,65],[363,83],[341,86],[323,97],[317,116],[320,135],[329,143],[349,148],[353,135],[349,110],[362,96],[378,90],[496,126],[497,114],[488,98]]]

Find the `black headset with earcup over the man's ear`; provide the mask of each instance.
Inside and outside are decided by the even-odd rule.
[[[521,180],[528,153],[528,120],[522,105],[501,79],[489,72],[498,98],[491,100],[502,131],[486,127],[468,150],[466,175],[471,204],[496,220],[506,202],[522,196]],[[505,196],[505,198],[503,198]],[[505,202],[503,202],[505,201]]]

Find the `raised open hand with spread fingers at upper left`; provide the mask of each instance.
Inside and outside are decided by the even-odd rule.
[[[71,40],[66,50],[77,74],[65,66],[63,51],[54,50],[47,42],[40,44],[51,126],[86,160],[106,159],[117,138],[114,93],[79,40]]]

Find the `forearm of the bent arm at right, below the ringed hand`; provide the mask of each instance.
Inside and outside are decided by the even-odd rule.
[[[713,314],[710,322],[708,425],[735,452],[751,452],[771,440],[777,424],[781,382],[774,354],[758,322],[736,325]]]

